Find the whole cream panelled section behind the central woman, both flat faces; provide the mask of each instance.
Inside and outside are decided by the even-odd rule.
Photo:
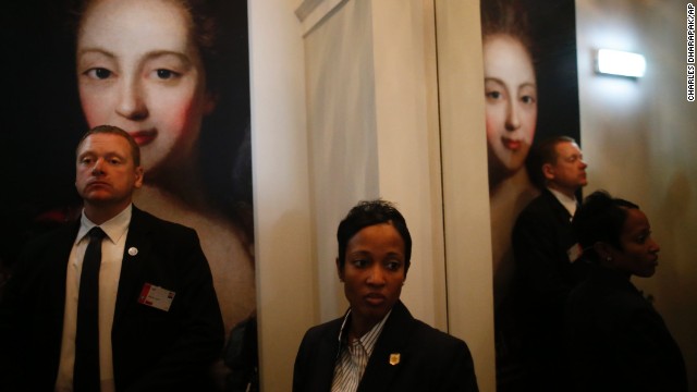
[[[334,267],[339,221],[358,200],[383,197],[414,241],[402,298],[447,329],[444,285],[435,284],[444,265],[432,32],[421,1],[347,1],[305,37],[316,321],[347,306]]]

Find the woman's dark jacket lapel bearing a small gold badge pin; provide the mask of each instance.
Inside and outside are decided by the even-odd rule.
[[[412,353],[408,347],[408,336],[412,333],[414,318],[406,306],[398,301],[392,308],[390,318],[384,322],[380,338],[376,342],[372,355],[366,366],[358,391],[386,391],[399,373]]]

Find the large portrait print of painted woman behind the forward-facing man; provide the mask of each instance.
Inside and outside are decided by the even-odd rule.
[[[80,218],[75,146],[117,125],[142,150],[134,204],[197,231],[227,335],[239,328],[227,363],[256,367],[246,2],[16,1],[0,19],[0,281],[27,241]]]

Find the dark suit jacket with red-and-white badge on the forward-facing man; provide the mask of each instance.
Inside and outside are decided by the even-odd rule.
[[[66,266],[78,228],[74,222],[37,238],[17,262],[0,307],[0,382],[17,384],[3,390],[53,389]],[[137,255],[129,255],[132,247]],[[169,311],[137,302],[146,283],[175,293]],[[111,333],[117,390],[200,390],[223,339],[210,268],[196,232],[134,206]]]

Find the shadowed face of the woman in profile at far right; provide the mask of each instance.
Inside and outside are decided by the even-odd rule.
[[[620,245],[622,249],[612,248],[610,253],[612,261],[609,262],[614,269],[641,278],[649,278],[656,273],[661,247],[651,237],[649,220],[641,210],[627,209],[627,218],[620,234]]]

